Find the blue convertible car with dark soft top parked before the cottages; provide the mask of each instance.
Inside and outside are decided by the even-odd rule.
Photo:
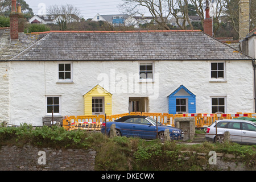
[[[176,127],[162,125],[153,118],[141,115],[127,115],[115,121],[103,122],[101,133],[110,133],[110,126],[115,124],[115,131],[117,136],[123,137],[139,137],[143,139],[156,139],[156,131],[158,131],[158,138],[164,139],[164,130],[170,130],[170,137],[172,140],[183,139],[183,131]],[[105,131],[106,130],[106,131]]]

